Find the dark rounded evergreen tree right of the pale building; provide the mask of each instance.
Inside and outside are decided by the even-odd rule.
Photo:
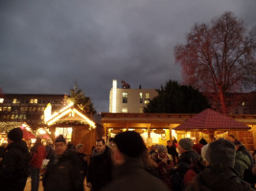
[[[176,81],[170,80],[165,87],[156,89],[158,96],[150,100],[145,113],[166,113],[166,114],[196,114],[210,104],[205,96],[192,86],[179,85]]]

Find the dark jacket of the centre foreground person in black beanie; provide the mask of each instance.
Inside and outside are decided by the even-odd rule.
[[[113,169],[113,180],[103,191],[168,191],[168,186],[147,172],[139,159],[129,159]]]

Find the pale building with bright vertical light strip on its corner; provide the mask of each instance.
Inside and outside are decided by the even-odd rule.
[[[109,93],[109,113],[143,113],[154,96],[157,96],[154,89],[130,89],[128,84],[118,88],[114,79]]]

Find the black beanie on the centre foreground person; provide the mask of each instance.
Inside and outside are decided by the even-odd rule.
[[[130,158],[138,158],[146,150],[146,145],[141,136],[133,131],[116,135],[114,142],[119,151]]]

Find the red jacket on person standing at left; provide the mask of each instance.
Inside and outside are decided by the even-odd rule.
[[[45,147],[42,144],[35,145],[31,149],[31,162],[30,165],[40,169],[42,166],[42,160],[45,159],[46,152]]]

